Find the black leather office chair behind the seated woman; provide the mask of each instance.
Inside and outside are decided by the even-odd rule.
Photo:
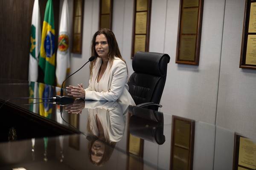
[[[132,60],[134,73],[128,81],[128,86],[136,105],[145,102],[159,104],[166,82],[169,61],[168,54],[139,51],[134,55]],[[155,105],[147,108],[158,110]]]

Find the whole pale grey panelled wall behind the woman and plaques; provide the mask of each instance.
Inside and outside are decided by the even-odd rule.
[[[71,55],[71,72],[90,57],[90,41],[98,30],[99,0],[84,3],[83,51],[82,55]],[[113,0],[112,20],[130,75],[133,3],[134,0]],[[152,0],[149,51],[171,57],[160,111],[255,137],[256,71],[239,68],[245,0],[204,0],[198,66],[175,63],[179,3],[180,0]],[[82,82],[86,87],[88,80],[89,65],[71,77],[68,84]]]

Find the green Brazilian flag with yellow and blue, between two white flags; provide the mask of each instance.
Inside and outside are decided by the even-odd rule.
[[[44,13],[39,66],[44,71],[44,83],[54,85],[55,82],[55,30],[52,0],[48,0]]]

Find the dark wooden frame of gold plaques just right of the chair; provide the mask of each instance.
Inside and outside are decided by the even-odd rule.
[[[199,64],[204,0],[180,0],[176,63]]]

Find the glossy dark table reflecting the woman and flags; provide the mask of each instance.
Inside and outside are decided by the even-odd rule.
[[[37,82],[0,80],[1,104],[11,99],[0,108],[0,169],[169,170],[184,167],[170,164],[171,111],[161,113],[105,101],[76,100],[60,106],[44,100],[14,99],[50,98],[59,90]],[[194,127],[191,168],[231,170],[235,133],[197,120]],[[255,136],[246,137],[255,140]]]

